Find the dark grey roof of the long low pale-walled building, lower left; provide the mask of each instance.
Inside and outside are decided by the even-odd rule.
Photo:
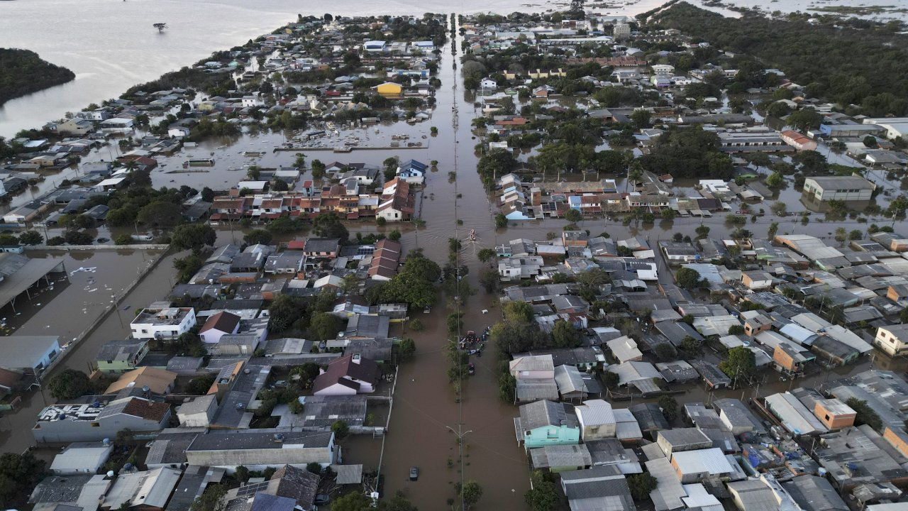
[[[276,441],[275,435],[281,435]],[[278,428],[254,431],[209,430],[197,436],[187,451],[223,451],[248,449],[281,449],[283,446],[327,447],[332,433],[285,431]]]

